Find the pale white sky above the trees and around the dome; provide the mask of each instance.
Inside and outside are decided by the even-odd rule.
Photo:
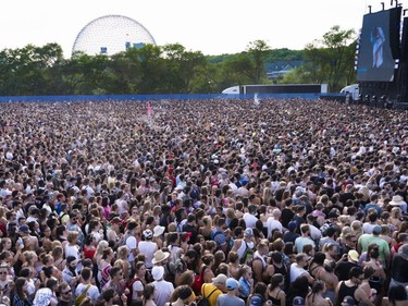
[[[137,21],[159,46],[206,56],[240,52],[258,39],[300,50],[334,25],[358,32],[368,5],[382,9],[370,0],[1,0],[0,50],[57,42],[69,58],[82,28],[110,14]]]

